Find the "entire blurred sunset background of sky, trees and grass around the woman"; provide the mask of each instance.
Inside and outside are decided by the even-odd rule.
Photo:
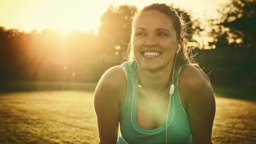
[[[97,143],[93,91],[126,61],[134,13],[152,3],[175,8],[188,24],[188,46],[219,105],[213,141],[255,142],[255,0],[0,0],[0,143]]]

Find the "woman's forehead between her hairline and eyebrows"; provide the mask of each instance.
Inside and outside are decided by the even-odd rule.
[[[173,22],[171,21],[171,19],[167,17],[165,14],[156,10],[141,12],[135,19],[134,29],[136,28],[165,28],[169,30],[174,29]]]

